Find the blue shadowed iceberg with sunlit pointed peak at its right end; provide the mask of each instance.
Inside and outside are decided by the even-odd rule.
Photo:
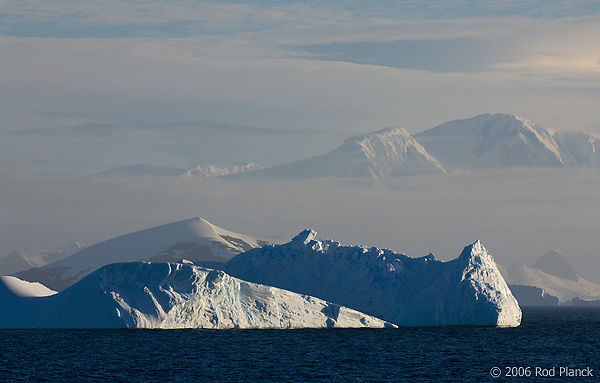
[[[518,326],[521,310],[479,243],[450,262],[341,246],[303,231],[222,265],[237,278],[325,299],[401,326]]]

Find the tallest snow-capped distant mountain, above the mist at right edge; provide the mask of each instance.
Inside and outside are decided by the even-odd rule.
[[[510,114],[482,114],[415,134],[446,169],[600,165],[600,138],[548,130]]]

